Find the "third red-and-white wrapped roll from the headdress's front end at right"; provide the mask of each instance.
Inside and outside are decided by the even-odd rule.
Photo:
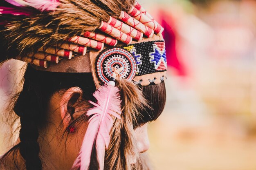
[[[121,11],[119,19],[121,21],[125,22],[126,24],[132,26],[133,28],[139,30],[141,33],[146,35],[148,38],[153,37],[153,34],[154,34],[153,29],[150,29],[148,26],[142,24],[135,18],[131,17],[130,15],[128,15],[128,13]]]

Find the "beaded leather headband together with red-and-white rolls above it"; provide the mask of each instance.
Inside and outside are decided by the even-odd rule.
[[[166,79],[162,31],[163,27],[135,2],[128,13],[121,11],[119,18],[110,16],[108,22],[101,21],[95,32],[87,31],[55,47],[45,46],[36,53],[15,59],[42,71],[95,72],[92,75],[96,86],[109,82],[112,67],[122,69],[121,77],[137,85],[153,85]],[[88,63],[89,58],[91,63]],[[59,62],[62,59],[68,60]]]

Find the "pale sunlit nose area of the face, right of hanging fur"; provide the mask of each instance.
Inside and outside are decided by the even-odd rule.
[[[135,137],[137,139],[137,148],[140,153],[146,152],[149,149],[148,129],[147,124],[135,130]]]

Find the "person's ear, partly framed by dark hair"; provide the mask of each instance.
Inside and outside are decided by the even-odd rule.
[[[71,87],[61,96],[60,112],[63,120],[63,127],[66,129],[70,122],[74,120],[75,103],[82,96],[82,90],[79,87]]]

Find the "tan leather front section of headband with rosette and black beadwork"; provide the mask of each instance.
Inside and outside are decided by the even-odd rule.
[[[148,41],[149,40],[149,41]],[[159,84],[166,79],[166,51],[162,36],[138,43],[90,53],[92,75],[97,86],[108,84],[114,72],[140,86]],[[95,65],[94,65],[95,64]]]

